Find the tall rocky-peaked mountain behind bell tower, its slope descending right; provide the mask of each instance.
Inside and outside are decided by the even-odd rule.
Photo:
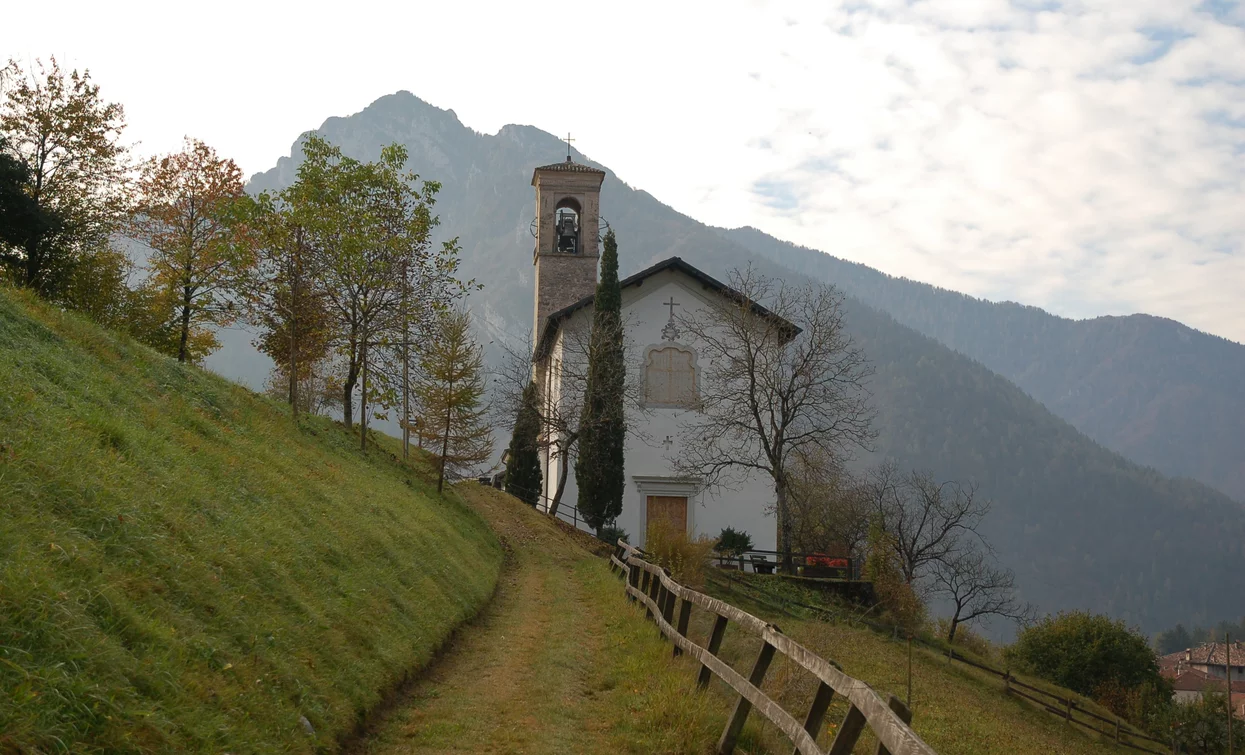
[[[464,270],[484,284],[484,294],[471,302],[483,328],[493,339],[527,335],[532,168],[559,159],[564,143],[529,126],[478,133],[452,111],[408,92],[330,118],[317,131],[366,159],[375,159],[386,143],[406,145],[412,167],[442,182],[439,230],[459,237]],[[298,153],[295,145],[291,156]],[[294,157],[283,157],[256,174],[250,188],[285,186],[295,168]],[[802,274],[759,255],[751,242],[626,186],[613,172],[601,208],[619,234],[622,274],[671,255],[713,275],[749,262],[773,275]],[[980,495],[994,501],[987,534],[1016,569],[1026,599],[1047,610],[1106,610],[1148,630],[1241,612],[1223,596],[1239,596],[1245,587],[1245,507],[1205,485],[1164,477],[1109,451],[981,361],[859,295],[848,306],[852,334],[876,366],[876,455],[944,478],[975,481]]]

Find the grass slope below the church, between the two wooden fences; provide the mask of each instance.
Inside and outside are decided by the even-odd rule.
[[[708,592],[723,601],[776,623],[804,647],[823,658],[834,660],[843,670],[873,686],[883,699],[894,694],[908,698],[908,643],[890,635],[849,623],[828,623],[810,618],[803,612],[777,612],[776,604],[783,599],[813,603],[810,593],[774,579],[757,578],[753,584],[769,584],[769,601],[753,599],[753,593],[732,588],[730,582],[711,579]],[[695,614],[693,614],[695,617]],[[700,638],[708,634],[708,619],[703,615],[693,620],[693,630]],[[697,637],[697,635],[693,635]],[[722,657],[736,669],[747,669],[759,650],[759,642],[732,633],[723,643]],[[956,653],[971,655],[961,649]],[[992,753],[1018,754],[1097,754],[1124,751],[1114,743],[1099,739],[1092,733],[1062,721],[1026,700],[1006,695],[1002,680],[961,663],[951,663],[944,654],[913,647],[913,729],[939,753],[986,755]],[[994,664],[994,662],[992,662]],[[1072,696],[1091,710],[1103,715],[1079,695],[1056,688],[1048,683],[1021,675],[1022,680]],[[802,668],[783,658],[774,660],[763,685],[767,693],[797,719],[803,720],[817,689],[817,681]],[[847,703],[838,699],[832,704],[827,721],[837,724],[847,714]],[[819,743],[828,744],[833,726],[823,733]],[[761,738],[769,751],[782,749],[782,734],[773,726],[763,726]],[[789,750],[789,745],[787,745]],[[857,753],[873,753],[875,743],[863,738]]]

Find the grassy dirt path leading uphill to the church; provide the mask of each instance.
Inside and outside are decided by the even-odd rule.
[[[605,563],[513,498],[462,492],[507,543],[502,582],[360,751],[703,751],[713,724],[701,705],[655,713],[690,695],[692,672],[671,663]]]

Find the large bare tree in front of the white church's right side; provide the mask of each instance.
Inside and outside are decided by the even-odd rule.
[[[833,287],[791,285],[751,268],[732,270],[728,283],[737,295],[680,318],[706,368],[701,411],[688,412],[680,430],[675,468],[707,486],[767,475],[791,572],[791,465],[813,449],[843,457],[868,447],[872,369],[844,330],[843,295]]]

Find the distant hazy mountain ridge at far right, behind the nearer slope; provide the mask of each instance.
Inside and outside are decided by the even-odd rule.
[[[721,233],[976,359],[1108,449],[1245,501],[1245,346],[1152,315],[1069,320],[975,299],[754,228]]]

